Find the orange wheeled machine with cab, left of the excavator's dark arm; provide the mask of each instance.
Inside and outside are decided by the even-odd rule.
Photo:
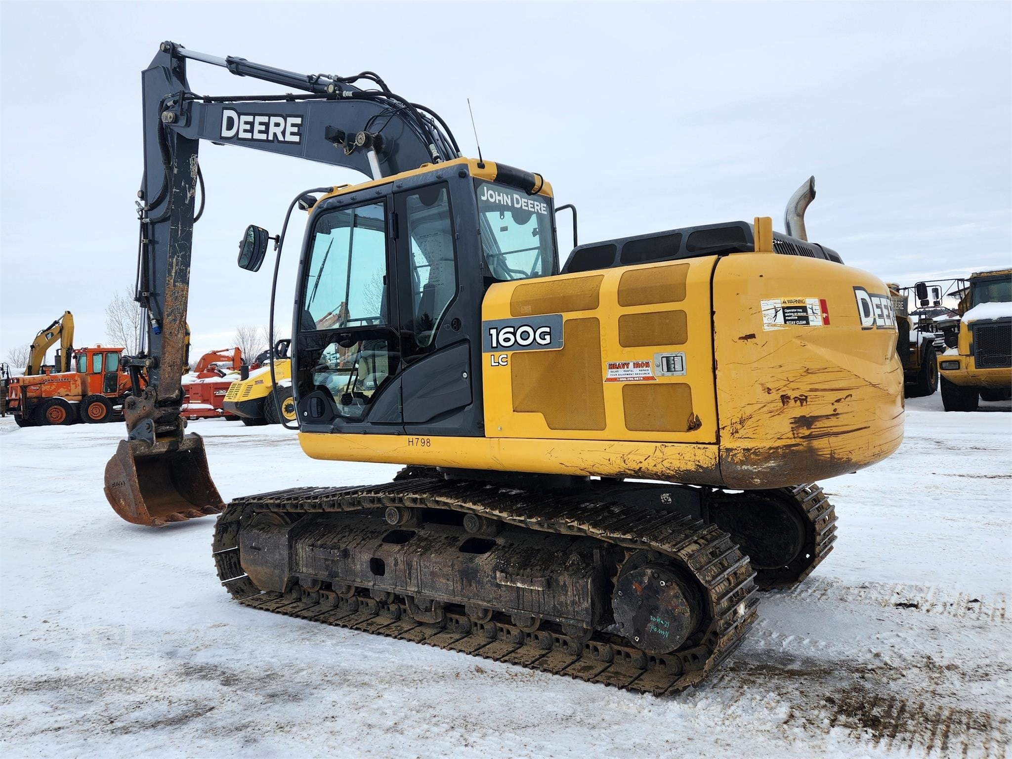
[[[5,376],[5,412],[19,427],[111,421],[131,391],[130,374],[120,366],[123,350],[78,348],[71,371]]]

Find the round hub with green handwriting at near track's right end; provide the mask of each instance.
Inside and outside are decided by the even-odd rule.
[[[677,572],[647,564],[618,578],[611,596],[618,630],[647,654],[677,651],[699,629],[698,594]]]

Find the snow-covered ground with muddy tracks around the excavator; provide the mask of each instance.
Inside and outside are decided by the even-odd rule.
[[[0,751],[21,756],[1004,757],[1009,403],[908,401],[889,460],[823,483],[837,547],[764,596],[704,686],[654,698],[240,606],[213,521],[120,521],[118,424],[0,420]],[[996,413],[997,412],[997,413]],[[380,482],[280,428],[205,420],[222,495]]]

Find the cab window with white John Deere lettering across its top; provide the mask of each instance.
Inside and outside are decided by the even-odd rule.
[[[552,274],[552,198],[494,182],[477,181],[475,188],[482,249],[492,276],[511,280]]]

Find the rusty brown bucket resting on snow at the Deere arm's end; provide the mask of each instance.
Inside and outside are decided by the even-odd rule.
[[[105,465],[105,497],[128,522],[151,527],[219,514],[225,508],[197,434],[184,436],[172,447],[120,440]]]

